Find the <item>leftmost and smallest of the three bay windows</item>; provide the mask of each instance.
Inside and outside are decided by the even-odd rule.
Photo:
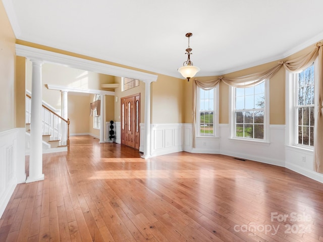
[[[219,117],[217,115],[217,97],[219,88],[214,87],[209,90],[197,88],[197,134],[202,137],[214,137],[218,132]]]

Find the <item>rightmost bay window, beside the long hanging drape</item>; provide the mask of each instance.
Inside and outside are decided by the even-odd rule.
[[[294,75],[295,141],[296,144],[314,144],[314,65]]]

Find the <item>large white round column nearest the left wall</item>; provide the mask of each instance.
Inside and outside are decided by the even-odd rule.
[[[41,65],[42,61],[32,59],[31,79],[31,118],[30,118],[30,156],[29,176],[26,183],[43,180],[42,173],[42,130],[41,130]]]

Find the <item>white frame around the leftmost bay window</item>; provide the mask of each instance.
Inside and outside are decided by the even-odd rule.
[[[213,103],[213,134],[212,135],[203,135],[200,133],[200,89],[199,87],[196,87],[196,138],[214,138],[219,137],[219,84],[217,84],[213,88],[213,97],[214,97],[214,103]]]

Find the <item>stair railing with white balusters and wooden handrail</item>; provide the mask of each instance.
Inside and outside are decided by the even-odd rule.
[[[41,129],[43,135],[50,135],[51,140],[60,140],[61,146],[70,150],[70,119],[67,120],[42,104]],[[31,96],[26,94],[26,124],[30,124]]]

